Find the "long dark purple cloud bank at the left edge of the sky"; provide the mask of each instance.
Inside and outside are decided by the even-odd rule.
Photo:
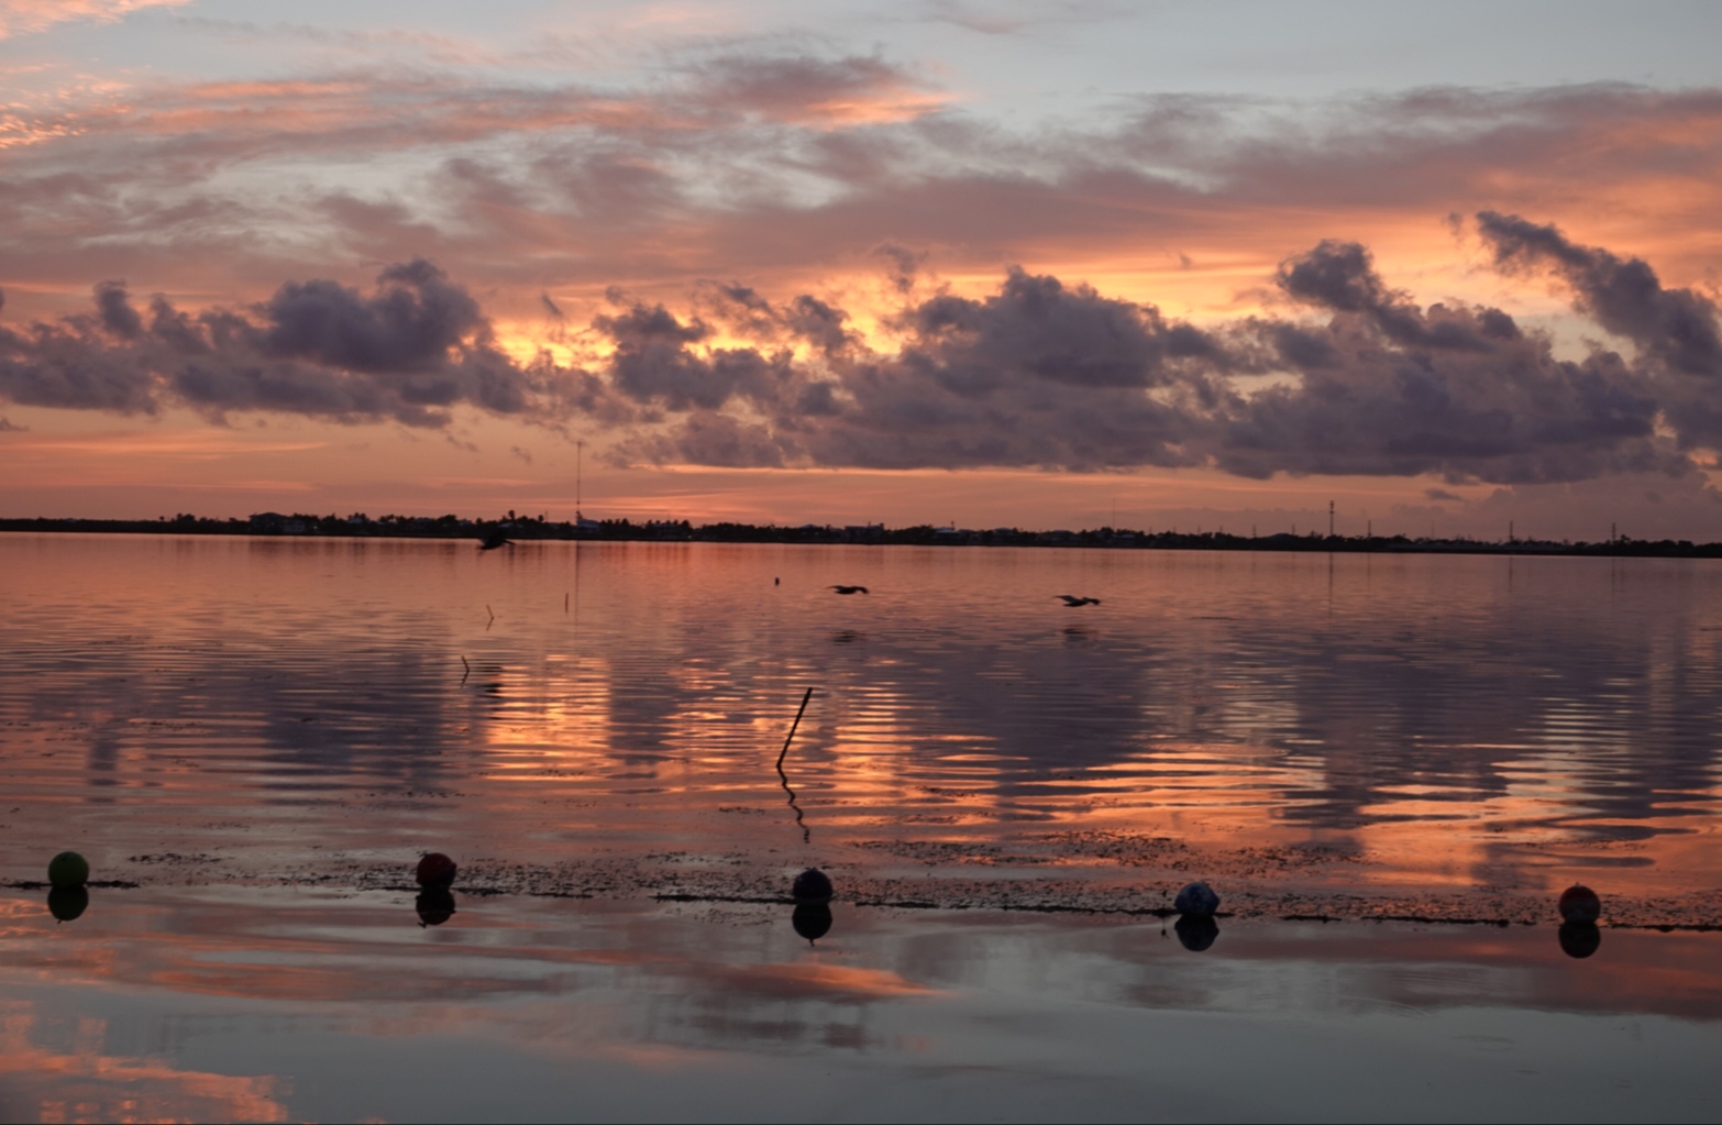
[[[250,310],[191,315],[164,298],[150,319],[124,284],[95,288],[95,315],[0,329],[0,395],[40,407],[212,417],[265,410],[346,422],[443,426],[456,405],[492,413],[604,413],[584,372],[523,367],[496,350],[477,301],[424,260],[391,265],[370,295],[332,281],[282,284]]]

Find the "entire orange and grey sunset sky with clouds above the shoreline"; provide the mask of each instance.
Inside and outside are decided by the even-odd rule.
[[[1722,538],[1717,43],[0,0],[0,515]]]

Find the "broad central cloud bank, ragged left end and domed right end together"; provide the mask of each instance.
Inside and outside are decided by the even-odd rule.
[[[847,314],[811,296],[773,305],[725,286],[708,307],[813,355],[697,350],[709,329],[663,308],[601,317],[623,393],[699,412],[737,400],[751,415],[734,427],[696,415],[627,453],[875,469],[1188,465],[1199,455],[1183,446],[1212,429],[1217,372],[1231,362],[1217,339],[1152,307],[1025,270],[987,298],[907,305],[890,353],[861,346],[842,329]]]

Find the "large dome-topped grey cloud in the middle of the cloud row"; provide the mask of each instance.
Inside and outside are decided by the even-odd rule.
[[[1216,339],[1057,277],[1011,270],[983,300],[909,305],[897,329],[895,353],[833,365],[847,401],[804,417],[813,462],[1188,465],[1199,455],[1186,446],[1223,398],[1216,372],[1228,358]]]

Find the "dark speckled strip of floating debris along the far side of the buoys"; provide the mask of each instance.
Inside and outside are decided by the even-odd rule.
[[[685,903],[789,903],[789,884],[806,863],[827,870],[837,901],[894,910],[1000,910],[1171,917],[1180,887],[1209,880],[1221,915],[1298,922],[1429,922],[1464,925],[1558,925],[1557,891],[1524,887],[1417,889],[1376,882],[1381,872],[1359,856],[1314,848],[1195,848],[1169,837],[1061,832],[1038,848],[949,841],[859,841],[818,856],[778,851],[692,851],[594,856],[560,863],[517,863],[479,856],[460,861],[455,891],[470,896],[660,899]],[[880,860],[885,860],[882,863]],[[890,860],[921,865],[906,873]],[[300,886],[353,891],[417,891],[413,863],[377,863],[341,855],[315,863],[257,867],[212,855],[138,855],[127,880],[148,886]],[[1049,870],[1052,868],[1052,870]],[[14,884],[24,886],[24,884]],[[34,884],[31,884],[34,886]],[[1632,896],[1607,886],[1605,927],[1658,930],[1722,929],[1722,891]]]

